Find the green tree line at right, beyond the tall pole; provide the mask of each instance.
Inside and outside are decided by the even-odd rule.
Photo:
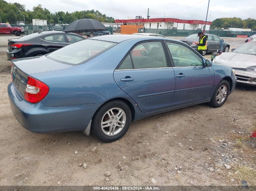
[[[256,30],[256,19],[248,18],[242,20],[241,18],[233,17],[233,18],[218,18],[212,21],[211,29],[216,28],[243,28],[243,29],[251,29]]]

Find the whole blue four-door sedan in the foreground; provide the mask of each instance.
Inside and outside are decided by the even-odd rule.
[[[222,106],[234,73],[177,40],[106,35],[12,60],[8,95],[32,132],[84,131],[112,142],[131,121],[204,102]]]

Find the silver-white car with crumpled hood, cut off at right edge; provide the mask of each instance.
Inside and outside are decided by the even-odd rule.
[[[216,56],[213,62],[232,67],[239,84],[256,86],[256,40],[231,51]]]

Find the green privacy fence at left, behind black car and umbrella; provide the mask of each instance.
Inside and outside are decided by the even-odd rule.
[[[16,24],[11,24],[12,27],[16,27]],[[36,33],[38,31],[63,31],[66,26],[53,26],[53,25],[22,25],[24,27],[24,33],[25,35]],[[110,31],[111,34],[113,34],[113,27],[106,27],[108,31]]]

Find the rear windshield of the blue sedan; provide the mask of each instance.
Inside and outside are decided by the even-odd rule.
[[[117,43],[85,39],[70,44],[47,55],[49,59],[64,64],[78,65],[98,56]]]

